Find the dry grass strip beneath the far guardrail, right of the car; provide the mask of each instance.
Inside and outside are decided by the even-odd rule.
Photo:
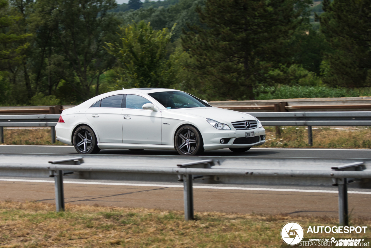
[[[313,146],[308,145],[308,129],[302,126],[282,126],[281,136],[274,126],[265,127],[263,147],[371,148],[370,127],[312,127]],[[315,129],[317,128],[317,129]]]

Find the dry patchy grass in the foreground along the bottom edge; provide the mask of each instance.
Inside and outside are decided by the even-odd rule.
[[[333,226],[337,219],[287,215],[197,213],[67,204],[54,212],[45,203],[0,202],[0,247],[280,247],[280,229],[289,221]],[[351,219],[370,226],[370,219]],[[367,234],[366,234],[367,235]]]

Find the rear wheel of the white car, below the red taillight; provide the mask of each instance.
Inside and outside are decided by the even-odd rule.
[[[79,126],[73,133],[73,146],[80,154],[97,154],[101,149],[95,133],[88,126]]]

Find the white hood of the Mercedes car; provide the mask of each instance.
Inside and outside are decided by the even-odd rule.
[[[217,107],[197,107],[197,108],[184,108],[184,109],[171,109],[170,111],[183,113],[187,115],[196,115],[203,118],[210,118],[227,125],[232,125],[231,122],[239,120],[255,120],[249,114],[237,112],[229,109],[221,109]]]

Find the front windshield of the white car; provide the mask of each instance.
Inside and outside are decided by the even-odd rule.
[[[189,107],[211,107],[200,99],[182,91],[165,91],[148,94],[167,109],[184,109]]]

